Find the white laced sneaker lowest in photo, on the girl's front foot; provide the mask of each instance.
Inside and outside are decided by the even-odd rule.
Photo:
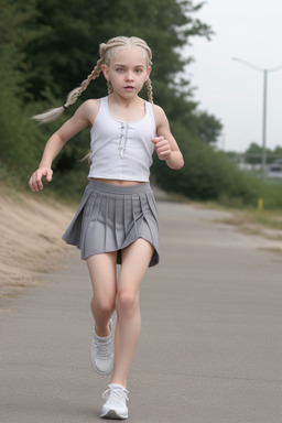
[[[107,400],[101,409],[100,417],[112,420],[124,420],[128,417],[128,390],[121,384],[111,383],[104,392],[102,398]]]

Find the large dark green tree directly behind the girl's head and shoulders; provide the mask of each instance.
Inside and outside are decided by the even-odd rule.
[[[142,0],[142,2],[0,0],[0,2],[7,14],[3,20],[4,31],[10,37],[10,41],[4,41],[7,56],[2,54],[4,59],[1,63],[7,62],[7,68],[2,74],[9,73],[7,87],[9,84],[13,86],[9,88],[9,101],[11,107],[14,107],[13,122],[17,122],[19,128],[19,122],[23,121],[17,135],[20,155],[15,158],[10,145],[14,133],[13,122],[9,120],[12,113],[4,109],[0,110],[2,128],[7,128],[1,148],[6,151],[7,158],[9,152],[12,153],[10,164],[13,162],[15,167],[21,167],[19,166],[21,159],[30,152],[26,163],[30,172],[33,171],[34,163],[42,153],[43,140],[46,141],[82,101],[107,94],[105,79],[99,77],[90,84],[75,107],[67,110],[58,121],[36,127],[28,118],[28,115],[62,105],[66,94],[91,72],[98,59],[99,44],[116,35],[140,36],[151,46],[154,99],[164,108],[176,133],[181,134],[182,138],[177,139],[181,148],[191,155],[191,151],[186,150],[189,138],[200,144],[216,142],[220,122],[212,115],[198,111],[191,83],[186,76],[183,77],[186,65],[192,61],[189,55],[183,55],[183,47],[189,44],[194,36],[210,39],[213,34],[209,25],[194,18],[195,12],[204,3],[189,0]],[[4,78],[2,84],[4,85]],[[193,145],[194,143],[189,143],[189,147],[194,148]],[[74,181],[72,193],[76,189],[75,186],[79,187],[77,189],[80,192],[85,183],[86,164],[80,163],[79,159],[85,155],[88,148],[89,134],[83,131],[74,142],[67,143],[54,163],[57,172],[53,183],[57,186],[61,184],[62,192],[65,189],[64,177]],[[199,155],[200,158],[203,155]],[[56,177],[58,172],[59,176]],[[158,172],[162,174],[162,166]],[[175,186],[177,184],[182,186],[183,181],[175,174]]]

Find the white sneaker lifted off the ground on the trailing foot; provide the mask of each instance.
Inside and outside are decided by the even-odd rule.
[[[101,337],[96,335],[94,329],[91,343],[91,362],[99,375],[108,375],[113,367],[113,337],[112,321],[109,322],[110,335]]]

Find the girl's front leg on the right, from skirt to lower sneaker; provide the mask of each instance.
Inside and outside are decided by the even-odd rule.
[[[117,327],[111,383],[123,387],[127,386],[127,375],[141,329],[139,290],[152,254],[152,245],[141,238],[122,251],[116,300]]]

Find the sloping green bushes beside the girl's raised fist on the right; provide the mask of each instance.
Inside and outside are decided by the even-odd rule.
[[[174,133],[177,139],[187,137],[185,129],[180,127],[174,129]],[[214,151],[193,135],[182,143],[181,149],[185,158],[185,166],[181,171],[175,172],[159,161],[154,162],[154,173],[160,186],[193,199],[234,197],[246,204],[257,202],[256,186],[259,181],[239,171],[226,160],[224,153]]]

